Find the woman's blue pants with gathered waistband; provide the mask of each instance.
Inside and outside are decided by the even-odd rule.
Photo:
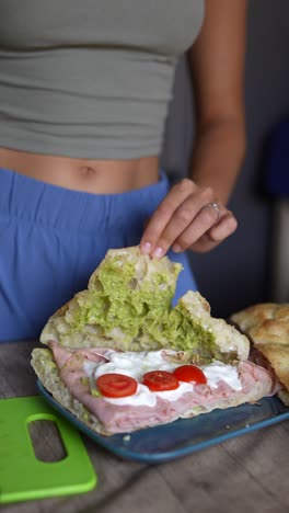
[[[38,338],[48,318],[88,286],[111,248],[138,244],[146,220],[169,190],[90,194],[0,169],[0,342]],[[187,256],[175,300],[196,289]]]

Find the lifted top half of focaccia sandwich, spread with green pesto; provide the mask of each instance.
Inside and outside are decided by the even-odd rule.
[[[211,317],[199,293],[187,292],[172,308],[181,270],[181,264],[166,256],[157,260],[141,254],[138,247],[107,251],[88,289],[47,321],[41,342],[123,351],[170,346],[193,352],[196,362],[246,360],[246,337]]]

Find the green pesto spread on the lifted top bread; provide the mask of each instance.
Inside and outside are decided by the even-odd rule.
[[[180,264],[170,272],[161,261],[148,265],[138,276],[135,262],[122,256],[108,259],[100,267],[94,283],[78,294],[66,314],[71,332],[85,326],[102,328],[109,339],[119,333],[119,347],[129,350],[141,340],[155,347],[190,351],[195,362],[210,362],[220,353],[210,329],[194,321],[181,304],[172,308]],[[116,330],[116,331],[113,331]]]

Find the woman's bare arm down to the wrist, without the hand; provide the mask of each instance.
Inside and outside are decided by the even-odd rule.
[[[201,33],[188,53],[197,106],[190,178],[227,204],[245,151],[243,76],[245,0],[207,0]]]

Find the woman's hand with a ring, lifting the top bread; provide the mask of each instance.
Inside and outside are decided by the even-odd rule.
[[[162,258],[170,248],[175,252],[212,250],[233,233],[238,223],[216,197],[212,189],[200,187],[193,180],[175,184],[150,218],[140,250]]]

